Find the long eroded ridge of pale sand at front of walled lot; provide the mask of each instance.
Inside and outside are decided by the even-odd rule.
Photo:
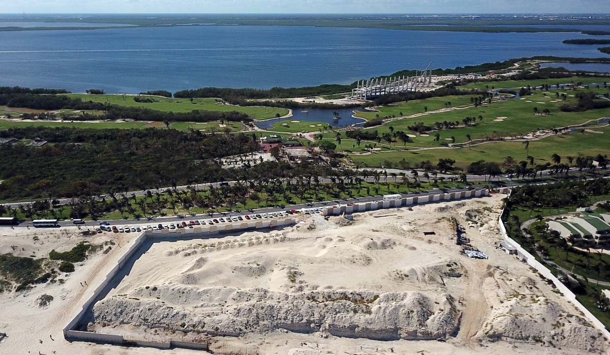
[[[179,293],[186,304],[195,300],[198,304],[196,308],[184,309],[154,300],[171,293]],[[286,329],[298,333],[321,331],[338,337],[398,340],[450,336],[457,331],[461,314],[451,295],[422,292],[309,290],[287,293],[233,287],[199,290],[163,286],[154,291],[139,289],[130,296],[135,297],[112,297],[96,304],[95,323],[190,328],[228,336]],[[138,297],[147,300],[136,300]]]

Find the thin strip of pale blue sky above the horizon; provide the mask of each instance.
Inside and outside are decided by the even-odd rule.
[[[0,0],[0,13],[610,13],[610,1]]]

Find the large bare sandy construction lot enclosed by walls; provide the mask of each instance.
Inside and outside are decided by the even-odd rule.
[[[572,304],[494,247],[502,197],[354,214],[350,225],[309,217],[271,233],[158,242],[84,322],[224,353],[414,353],[416,344],[456,354],[605,352],[607,340]],[[488,260],[461,253],[450,216]]]

